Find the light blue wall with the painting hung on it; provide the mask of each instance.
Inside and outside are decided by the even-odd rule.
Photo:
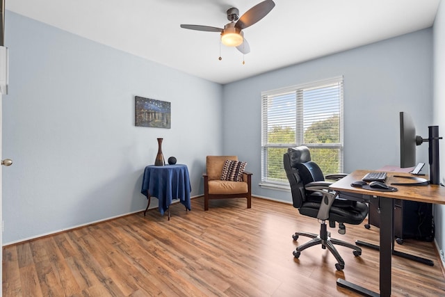
[[[6,13],[3,243],[145,209],[158,137],[202,193],[204,156],[223,147],[220,84]],[[136,95],[171,102],[171,129],[135,127]]]

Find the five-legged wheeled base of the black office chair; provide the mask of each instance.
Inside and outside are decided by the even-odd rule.
[[[334,244],[337,244],[339,246],[346,246],[346,248],[352,248],[353,254],[355,257],[358,257],[359,255],[362,255],[362,249],[358,246],[355,246],[352,243],[347,243],[346,241],[341,241],[339,239],[332,239],[330,237],[330,232],[327,232],[327,225],[323,221],[320,226],[320,235],[314,234],[314,233],[307,233],[307,232],[296,232],[292,235],[292,238],[294,241],[298,240],[299,236],[306,236],[309,238],[312,238],[312,240],[308,241],[307,243],[302,244],[301,246],[298,246],[296,250],[293,251],[293,257],[300,257],[300,253],[302,250],[305,250],[307,248],[310,248],[311,246],[316,246],[318,244],[321,244],[321,248],[325,249],[327,248],[332,255],[334,255],[335,259],[337,259],[337,264],[335,264],[335,268],[337,268],[338,271],[342,271],[343,268],[345,268],[345,262],[343,258],[340,256],[337,248],[334,247]]]

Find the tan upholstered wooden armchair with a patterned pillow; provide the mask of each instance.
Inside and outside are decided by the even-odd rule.
[[[207,156],[204,210],[209,210],[209,200],[226,198],[246,198],[251,207],[252,173],[244,171],[245,164],[237,156]]]

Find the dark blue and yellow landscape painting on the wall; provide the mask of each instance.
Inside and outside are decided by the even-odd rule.
[[[170,102],[135,96],[136,126],[170,129]]]

